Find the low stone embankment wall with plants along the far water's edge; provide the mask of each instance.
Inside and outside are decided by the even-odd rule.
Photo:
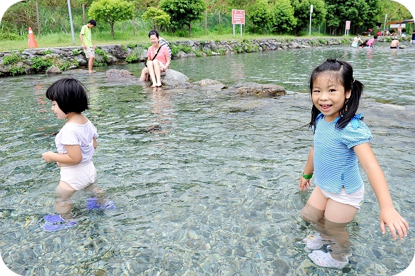
[[[232,55],[263,50],[285,50],[288,48],[308,48],[351,44],[349,38],[320,39],[234,39],[232,41],[170,42],[172,59],[181,57],[201,57],[206,55]],[[94,66],[109,66],[119,63],[136,63],[147,60],[150,44],[102,45],[95,49]],[[22,51],[0,53],[0,77],[44,73],[54,68],[55,73],[75,68],[86,68],[88,60],[80,46],[59,48],[32,48]]]

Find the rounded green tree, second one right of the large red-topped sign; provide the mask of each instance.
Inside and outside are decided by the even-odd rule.
[[[289,33],[297,25],[294,17],[294,8],[290,0],[276,0],[273,8],[273,30],[280,33]]]

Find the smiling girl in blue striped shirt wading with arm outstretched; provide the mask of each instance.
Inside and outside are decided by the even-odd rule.
[[[348,223],[360,209],[365,187],[358,162],[367,174],[380,206],[380,230],[385,226],[396,239],[407,237],[407,221],[400,217],[392,203],[385,175],[371,150],[371,132],[356,114],[363,84],[353,78],[353,68],[347,62],[327,59],[311,73],[310,91],[313,100],[311,122],[314,146],[299,190],[308,190],[315,175],[315,188],[301,211],[305,221],[317,230],[305,239],[308,254],[318,266],[342,268],[347,265],[349,250]],[[329,252],[318,250],[331,244]]]

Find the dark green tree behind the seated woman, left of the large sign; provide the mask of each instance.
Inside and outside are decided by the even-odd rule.
[[[192,37],[191,24],[203,17],[206,5],[203,0],[162,0],[160,8],[170,15],[173,28],[188,26]]]

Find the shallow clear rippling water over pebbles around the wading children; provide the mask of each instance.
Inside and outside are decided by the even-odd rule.
[[[69,71],[89,89],[85,115],[98,128],[93,161],[98,186],[115,210],[85,208],[73,196],[78,225],[44,232],[53,213],[59,168],[53,149],[63,121],[44,93],[61,76],[0,78],[0,252],[21,275],[396,275],[414,256],[414,235],[383,237],[378,203],[364,173],[365,201],[347,230],[353,256],[343,270],[320,268],[302,239],[299,193],[313,135],[305,127],[308,75],[327,57],[351,62],[369,95],[361,111],[371,145],[400,214],[414,227],[415,47],[347,46],[174,59],[192,82],[280,84],[279,98],[199,89],[153,92],[111,84],[109,68]],[[112,66],[139,76],[142,64]]]

